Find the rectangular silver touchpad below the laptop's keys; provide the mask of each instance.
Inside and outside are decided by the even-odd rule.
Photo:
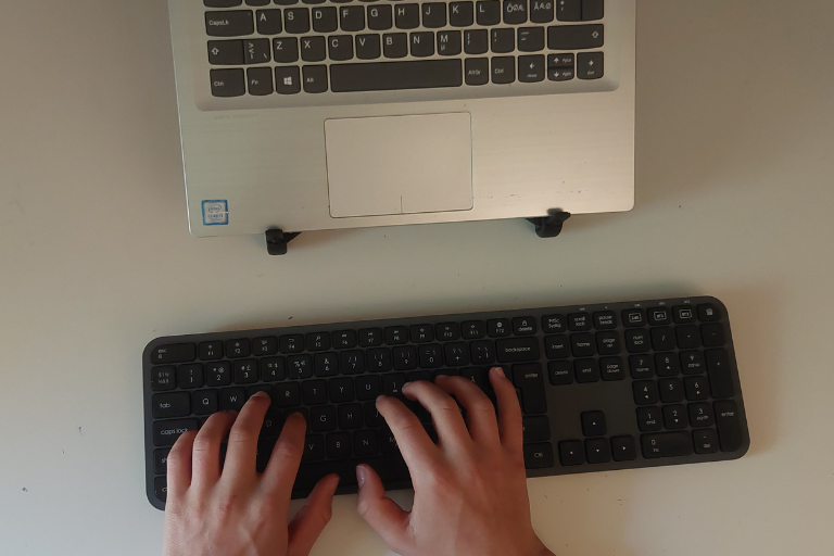
[[[472,207],[469,114],[328,119],[325,140],[334,218]]]

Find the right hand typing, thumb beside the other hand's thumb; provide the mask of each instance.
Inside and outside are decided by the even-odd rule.
[[[522,452],[521,408],[501,368],[490,370],[498,402],[462,377],[403,387],[431,414],[437,445],[400,400],[380,397],[386,418],[408,464],[414,507],[404,511],[386,497],[374,469],[356,469],[358,510],[403,556],[553,556],[533,532]],[[466,408],[467,424],[454,394]]]

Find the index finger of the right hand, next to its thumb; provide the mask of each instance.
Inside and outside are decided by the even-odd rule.
[[[377,410],[394,433],[412,477],[429,470],[427,464],[440,457],[440,450],[431,441],[417,416],[403,402],[387,395],[377,397]]]

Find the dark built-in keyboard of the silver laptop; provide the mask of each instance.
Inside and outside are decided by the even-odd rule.
[[[216,98],[564,85],[605,75],[604,0],[204,5]]]

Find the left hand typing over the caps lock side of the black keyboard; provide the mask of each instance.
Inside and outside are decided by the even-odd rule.
[[[216,413],[168,454],[165,556],[306,556],[330,521],[339,476],[321,479],[287,525],[304,448],[304,417],[290,415],[263,475],[257,437],[269,407],[260,392],[240,410]],[[231,431],[229,432],[229,429]],[[220,443],[229,433],[220,469]]]

